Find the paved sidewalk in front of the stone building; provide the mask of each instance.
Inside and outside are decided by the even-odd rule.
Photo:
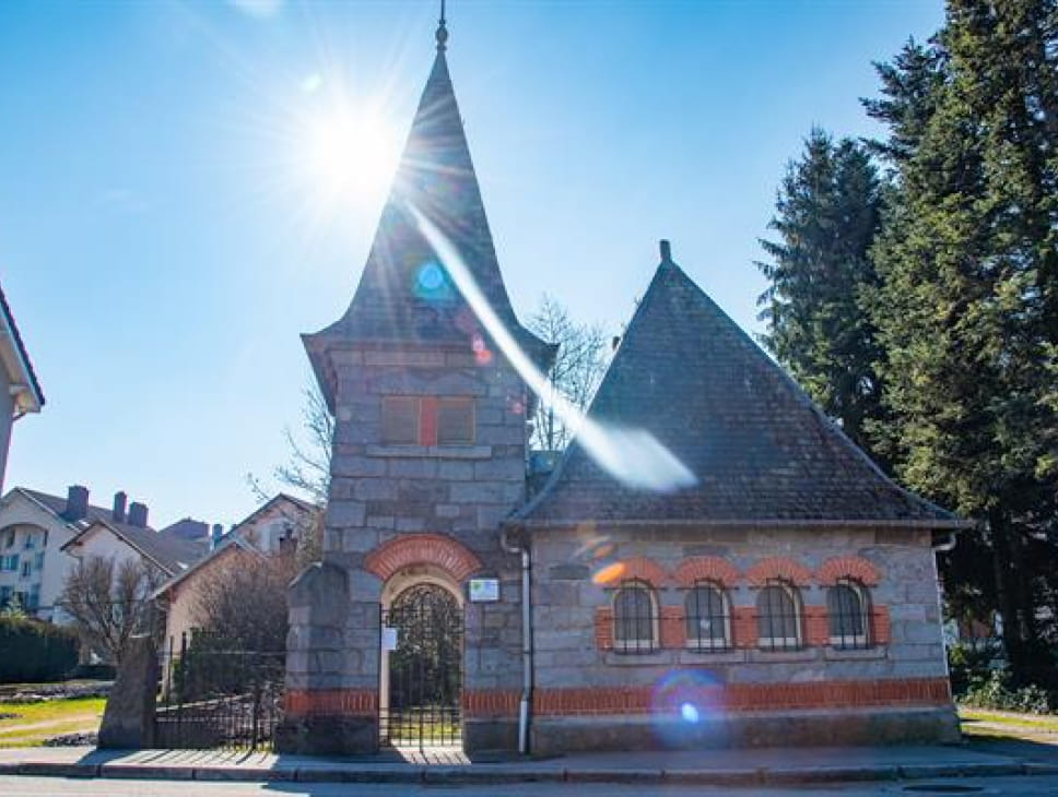
[[[1058,748],[1032,742],[954,747],[789,748],[571,754],[470,762],[442,749],[314,758],[214,750],[0,750],[0,775],[174,781],[344,783],[642,783],[761,785],[992,775],[1058,775]]]

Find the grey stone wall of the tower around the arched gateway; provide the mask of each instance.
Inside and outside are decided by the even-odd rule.
[[[372,722],[384,584],[365,561],[396,538],[428,534],[466,546],[481,562],[477,574],[501,581],[498,603],[467,604],[463,702],[478,707],[470,724],[509,724],[507,703],[483,698],[520,683],[520,564],[501,548],[498,526],[525,500],[525,385],[498,356],[481,365],[463,352],[350,349],[333,359],[339,388],[324,566],[291,594],[289,712],[292,705],[306,716],[358,712]],[[474,443],[383,445],[387,395],[472,396]],[[317,580],[328,585],[315,588]],[[495,737],[484,733],[479,747],[501,744]]]

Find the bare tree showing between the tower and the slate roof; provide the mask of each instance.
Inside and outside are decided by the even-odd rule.
[[[526,325],[546,343],[559,344],[559,354],[548,372],[553,393],[586,411],[607,370],[608,347],[602,330],[577,323],[565,307],[546,294]],[[530,444],[538,450],[561,451],[573,439],[576,426],[554,412],[551,396],[541,398],[533,416]]]

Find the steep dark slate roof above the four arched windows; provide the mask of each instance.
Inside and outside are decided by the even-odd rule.
[[[697,484],[625,487],[574,441],[516,523],[966,525],[885,477],[662,246],[588,416],[651,432]]]

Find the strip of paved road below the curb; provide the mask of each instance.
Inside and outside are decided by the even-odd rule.
[[[927,786],[939,786],[922,790]],[[915,790],[909,789],[912,787]],[[948,788],[943,788],[948,787]],[[959,790],[953,790],[956,787]],[[840,786],[804,786],[800,788],[712,788],[704,786],[648,787],[613,784],[504,784],[503,786],[411,786],[360,785],[339,783],[257,784],[257,783],[187,783],[173,781],[84,781],[60,777],[0,776],[3,797],[281,797],[310,795],[311,797],[779,797],[779,795],[844,795],[868,797],[874,795],[943,795],[977,794],[1003,797],[1036,797],[1058,794],[1058,777],[986,777],[938,778],[914,783],[871,783]]]

